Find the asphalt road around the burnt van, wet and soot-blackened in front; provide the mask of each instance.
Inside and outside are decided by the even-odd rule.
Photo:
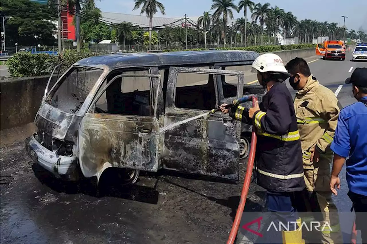
[[[367,63],[308,59],[321,84],[335,92],[342,106],[355,102],[344,80]],[[351,69],[351,67],[353,67]],[[254,81],[248,74],[246,81]],[[291,89],[291,88],[290,88]],[[291,91],[294,95],[294,91]],[[247,161],[246,161],[247,162]],[[241,164],[244,176],[244,163]],[[339,211],[350,210],[345,171],[334,198]],[[168,174],[142,175],[132,189],[114,188],[102,176],[103,192],[83,184],[65,184],[40,170],[23,143],[0,149],[0,243],[225,243],[243,182],[228,184]],[[246,211],[262,211],[265,192],[251,185]],[[350,229],[350,223],[346,223]],[[237,240],[240,243],[244,237]],[[347,237],[348,239],[348,237]]]

